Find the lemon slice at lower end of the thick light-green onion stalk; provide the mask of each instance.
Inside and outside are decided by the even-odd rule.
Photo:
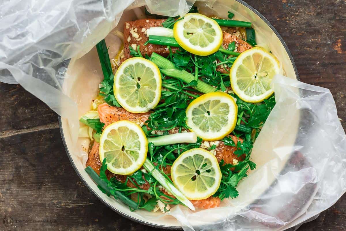
[[[238,107],[224,92],[204,94],[186,108],[186,124],[206,141],[221,140],[236,126]]]

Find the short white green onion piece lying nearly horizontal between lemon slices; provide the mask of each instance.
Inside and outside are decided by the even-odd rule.
[[[170,145],[177,143],[196,143],[197,135],[194,132],[182,132],[170,135],[162,135],[156,137],[148,137],[148,143],[154,146]]]

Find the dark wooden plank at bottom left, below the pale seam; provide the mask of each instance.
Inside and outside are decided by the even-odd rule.
[[[118,215],[84,186],[58,128],[4,137],[0,153],[0,214],[15,222],[5,230],[159,230]],[[57,222],[33,222],[44,219]]]

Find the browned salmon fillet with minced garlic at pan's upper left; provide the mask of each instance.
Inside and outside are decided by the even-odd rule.
[[[161,46],[161,45],[155,45],[155,44],[147,44],[146,46],[144,43],[148,41],[149,37],[147,36],[146,29],[149,27],[162,27],[162,23],[166,19],[138,19],[135,21],[127,21],[125,22],[125,29],[124,29],[124,58],[121,59],[121,63],[124,62],[126,59],[132,57],[130,55],[130,46],[140,46],[139,50],[142,55],[151,55],[153,52],[162,55],[167,56],[170,53],[170,50],[167,46]],[[135,45],[133,45],[135,44]],[[134,47],[133,47],[134,48]],[[177,47],[171,47],[172,52],[175,52],[178,48]],[[135,48],[136,50],[136,48]]]

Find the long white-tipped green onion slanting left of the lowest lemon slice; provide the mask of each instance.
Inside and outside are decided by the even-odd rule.
[[[147,158],[144,162],[143,167],[151,172],[151,175],[164,187],[168,192],[172,193],[181,203],[186,205],[191,210],[195,211],[193,204],[186,198],[174,185],[168,181],[160,171],[158,171],[153,163]]]

